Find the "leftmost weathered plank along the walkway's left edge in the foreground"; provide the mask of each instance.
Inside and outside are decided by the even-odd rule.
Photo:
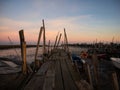
[[[44,79],[51,62],[44,63],[34,77],[29,81],[24,90],[42,90]]]

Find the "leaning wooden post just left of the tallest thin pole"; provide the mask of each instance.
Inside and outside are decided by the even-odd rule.
[[[43,30],[43,27],[40,28],[37,47],[36,47],[36,52],[35,52],[35,68],[39,68],[39,66],[40,66],[40,62],[37,60],[37,54],[38,54],[40,39],[41,39],[41,36],[42,36],[42,30]]]

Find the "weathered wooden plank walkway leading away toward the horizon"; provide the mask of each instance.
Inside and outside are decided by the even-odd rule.
[[[68,55],[59,50],[41,66],[24,90],[80,90],[79,81],[79,72],[72,67]]]

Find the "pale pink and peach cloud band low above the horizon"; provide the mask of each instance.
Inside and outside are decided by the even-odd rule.
[[[20,21],[10,18],[0,18],[0,20],[0,41],[8,41],[7,37],[10,36],[13,41],[19,42],[18,31],[24,29],[26,41],[28,43],[37,43],[40,27],[42,26],[42,20]],[[47,41],[51,40],[51,42],[54,42],[58,31],[63,34],[64,28],[66,28],[68,40],[70,42],[90,42],[96,38],[98,38],[98,40],[110,40],[111,37],[115,35],[119,37],[120,33],[112,31],[114,28],[100,25],[94,26],[90,24],[90,22],[92,22],[92,24],[95,23],[92,15],[45,19],[46,39]],[[107,30],[110,31],[108,32]]]

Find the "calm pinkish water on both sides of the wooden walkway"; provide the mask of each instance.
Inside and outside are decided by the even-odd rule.
[[[80,47],[70,47],[70,52],[71,53],[75,53],[77,55],[80,55],[80,52],[82,50],[87,50],[86,48],[80,48]],[[17,53],[16,53],[17,51]],[[15,59],[15,60],[21,60],[21,49],[20,48],[16,48],[15,49],[6,49],[6,50],[0,50],[0,57],[5,57],[5,58],[10,58],[10,59]],[[30,64],[34,61],[35,58],[35,51],[36,51],[36,47],[31,47],[31,48],[27,48],[26,50],[26,59],[27,59],[27,63]],[[42,47],[39,47],[38,50],[38,56],[42,55]]]

